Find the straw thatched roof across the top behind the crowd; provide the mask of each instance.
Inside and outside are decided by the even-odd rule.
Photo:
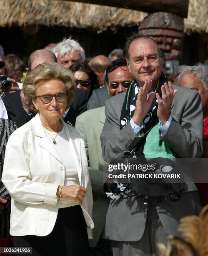
[[[122,8],[57,0],[0,0],[0,26],[64,26],[93,28],[137,26],[147,13]],[[185,32],[208,33],[208,1],[190,0]]]

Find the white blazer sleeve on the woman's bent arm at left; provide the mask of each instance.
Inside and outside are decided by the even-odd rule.
[[[57,205],[57,185],[31,180],[26,136],[12,134],[5,151],[2,181],[11,197],[26,205]]]

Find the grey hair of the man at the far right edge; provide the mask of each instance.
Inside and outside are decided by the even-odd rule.
[[[198,63],[195,66],[180,66],[178,67],[178,84],[180,77],[183,74],[193,74],[195,77],[199,79],[201,84],[204,87],[205,91],[208,91],[208,67],[201,63]]]

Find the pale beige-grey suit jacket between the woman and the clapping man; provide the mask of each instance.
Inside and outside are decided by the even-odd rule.
[[[88,110],[76,119],[75,129],[85,141],[85,148],[90,166],[90,180],[93,189],[93,240],[90,247],[95,247],[105,225],[109,201],[103,190],[103,157],[100,134],[105,122],[105,107]]]

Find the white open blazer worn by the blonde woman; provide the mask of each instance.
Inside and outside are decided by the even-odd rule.
[[[81,207],[92,238],[93,196],[84,141],[73,127],[62,123],[71,138],[80,185],[87,189]],[[6,146],[2,181],[12,197],[12,236],[47,236],[53,230],[59,204],[56,191],[64,179],[65,167],[37,114],[10,136]]]

